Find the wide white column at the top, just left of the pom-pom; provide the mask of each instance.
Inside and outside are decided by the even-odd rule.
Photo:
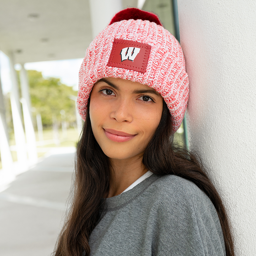
[[[107,27],[112,17],[122,10],[121,0],[89,0],[92,36],[97,36],[101,30]]]

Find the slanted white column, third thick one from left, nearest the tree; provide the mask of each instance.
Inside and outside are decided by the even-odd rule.
[[[21,87],[21,95],[22,95],[22,99],[20,101],[22,103],[22,110],[23,110],[25,134],[26,134],[26,140],[27,140],[28,160],[30,164],[34,164],[37,160],[36,134],[33,127],[32,115],[31,115],[27,70],[24,68],[23,64],[21,64],[21,69],[20,69],[20,87]]]

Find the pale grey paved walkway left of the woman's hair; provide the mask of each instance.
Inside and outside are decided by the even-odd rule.
[[[0,255],[50,256],[69,195],[74,153],[53,154],[0,193]]]

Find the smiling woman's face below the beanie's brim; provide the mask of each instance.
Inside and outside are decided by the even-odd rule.
[[[162,96],[145,84],[108,77],[92,88],[92,132],[103,152],[113,159],[142,156],[162,110]]]

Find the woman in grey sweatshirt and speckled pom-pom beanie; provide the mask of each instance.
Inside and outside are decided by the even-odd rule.
[[[117,13],[87,49],[79,85],[85,124],[55,255],[234,255],[220,196],[172,143],[188,76],[158,18]]]

